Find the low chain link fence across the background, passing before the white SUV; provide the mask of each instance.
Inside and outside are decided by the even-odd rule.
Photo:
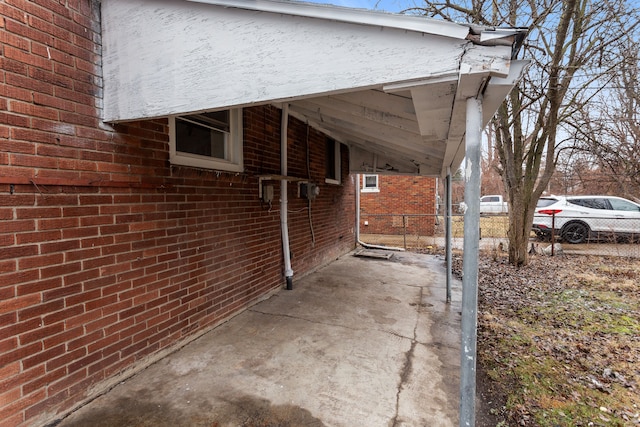
[[[550,221],[553,220],[550,218]],[[591,218],[586,229],[567,222],[553,220],[545,231],[530,236],[530,247],[537,254],[554,255],[585,254],[640,258],[640,219],[616,218],[614,228],[611,219]],[[598,221],[600,221],[598,223]],[[564,227],[563,227],[564,226]],[[508,215],[480,216],[480,249],[496,253],[508,250]],[[586,233],[584,239],[578,234]],[[454,250],[463,249],[464,215],[454,214],[451,219],[451,244]],[[372,245],[399,247],[406,250],[438,252],[445,247],[445,218],[430,214],[361,214],[360,240]],[[569,242],[576,243],[569,243]],[[559,244],[559,245],[558,245]]]

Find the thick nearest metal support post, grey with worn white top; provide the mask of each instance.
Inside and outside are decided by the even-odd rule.
[[[460,357],[460,426],[475,426],[476,344],[478,326],[478,253],[480,247],[480,160],[482,99],[467,99],[462,256],[462,342]]]

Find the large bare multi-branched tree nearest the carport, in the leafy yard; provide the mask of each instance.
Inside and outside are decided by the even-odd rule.
[[[635,0],[424,0],[412,9],[473,24],[526,27],[532,60],[492,121],[509,201],[509,261],[528,263],[535,205],[553,176],[568,122],[608,87],[619,41],[639,25]]]

